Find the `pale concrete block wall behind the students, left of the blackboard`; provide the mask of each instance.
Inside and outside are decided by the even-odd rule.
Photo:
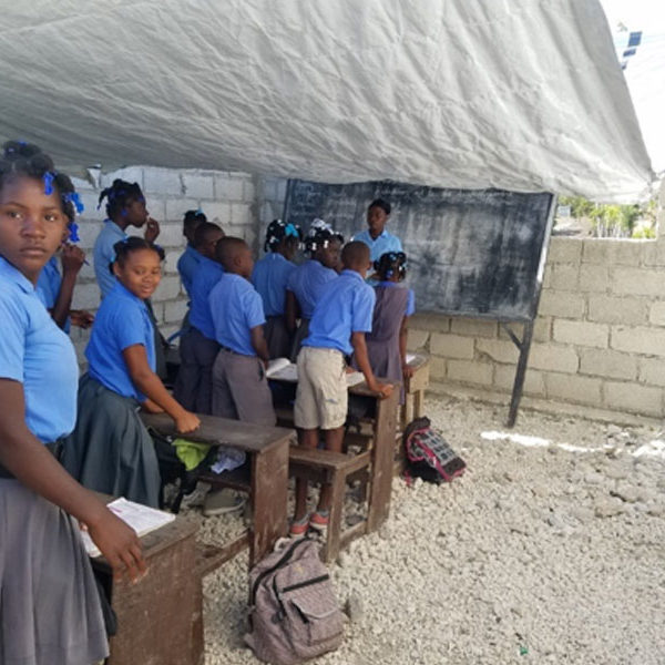
[[[168,337],[180,328],[186,311],[186,297],[182,289],[176,264],[185,247],[182,235],[183,215],[201,207],[211,222],[219,224],[227,235],[243,237],[257,248],[257,178],[248,173],[222,171],[174,171],[149,166],[130,166],[102,174],[92,184],[74,178],[85,211],[79,219],[81,247],[86,252],[89,266],[83,266],[74,290],[73,307],[95,311],[100,290],[92,267],[92,247],[105,217],[104,206],[96,209],[100,192],[114,178],[137,182],[146,198],[147,209],[161,226],[157,243],[166,253],[162,282],[153,297],[160,329]],[[129,228],[140,235],[143,229]],[[90,331],[73,328],[72,340],[81,364]]]

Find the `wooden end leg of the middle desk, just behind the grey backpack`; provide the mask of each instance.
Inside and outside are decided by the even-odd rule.
[[[288,490],[288,441],[252,460],[252,502],[254,531],[249,539],[249,566],[258,563],[286,535]]]

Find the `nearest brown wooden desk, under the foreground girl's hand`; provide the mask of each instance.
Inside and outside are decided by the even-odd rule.
[[[110,592],[117,634],[110,640],[108,665],[201,665],[203,593],[196,570],[197,526],[175,519],[141,539],[149,566],[132,584],[113,580],[103,557],[92,559]]]

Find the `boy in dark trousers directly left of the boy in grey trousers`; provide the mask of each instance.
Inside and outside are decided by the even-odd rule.
[[[193,248],[200,258],[188,288],[190,326],[181,338],[181,366],[173,396],[185,409],[196,413],[211,413],[213,365],[219,345],[215,339],[208,296],[224,274],[215,258],[215,247],[223,237],[224,232],[216,224],[203,222],[193,238]]]

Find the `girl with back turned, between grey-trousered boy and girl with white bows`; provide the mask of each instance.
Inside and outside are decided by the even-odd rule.
[[[252,284],[260,295],[266,316],[265,337],[270,359],[290,354],[291,336],[284,318],[286,305],[286,285],[296,269],[293,263],[298,245],[300,229],[282,219],[270,222],[266,231],[264,250],[266,255],[254,265]]]

